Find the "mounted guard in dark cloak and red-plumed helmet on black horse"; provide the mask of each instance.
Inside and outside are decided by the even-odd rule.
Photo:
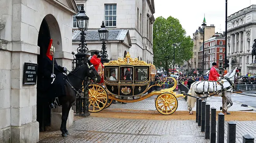
[[[61,97],[66,95],[65,92],[65,79],[64,74],[67,71],[66,67],[59,66],[56,60],[53,58],[55,53],[55,48],[52,45],[52,39],[48,45],[46,56],[41,61],[41,74],[42,81],[38,82],[37,89],[47,96],[50,100],[50,108],[56,108],[57,102],[56,97]],[[53,63],[54,63],[54,73],[53,73]],[[54,79],[55,78],[55,79]],[[54,80],[53,80],[54,79]]]

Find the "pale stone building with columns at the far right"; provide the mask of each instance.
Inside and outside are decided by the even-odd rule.
[[[256,5],[251,5],[228,17],[227,59],[230,66],[227,69],[239,67],[242,75],[249,72],[249,66],[252,63],[251,46],[256,39],[255,14]]]

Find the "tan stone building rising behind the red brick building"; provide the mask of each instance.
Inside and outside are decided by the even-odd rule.
[[[193,33],[193,41],[194,41],[193,58],[190,60],[191,68],[193,71],[199,69],[198,52],[200,50],[200,47],[203,44],[203,32],[204,32],[204,40],[209,39],[215,34],[215,27],[213,24],[211,24],[210,26],[206,26],[204,30],[201,27],[199,27],[195,31],[195,33]]]

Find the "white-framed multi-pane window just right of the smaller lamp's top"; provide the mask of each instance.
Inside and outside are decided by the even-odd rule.
[[[105,4],[105,25],[116,27],[116,4]]]

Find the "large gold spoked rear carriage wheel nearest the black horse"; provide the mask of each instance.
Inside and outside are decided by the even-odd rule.
[[[102,111],[108,101],[107,92],[101,85],[91,84],[88,86],[89,112]]]

